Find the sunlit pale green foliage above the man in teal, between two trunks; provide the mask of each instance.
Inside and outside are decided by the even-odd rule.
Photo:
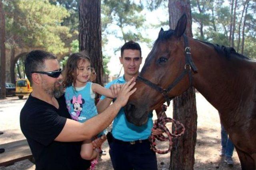
[[[124,42],[129,40],[150,42],[143,37],[141,31],[144,27],[145,17],[140,14],[143,10],[142,4],[136,4],[130,0],[103,0],[102,1],[102,30],[113,24],[120,28],[122,36],[115,31],[107,31],[103,35],[112,33]],[[106,43],[106,42],[105,42]]]

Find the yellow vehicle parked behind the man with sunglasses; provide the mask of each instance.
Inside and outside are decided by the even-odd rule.
[[[23,96],[28,96],[32,92],[32,87],[28,79],[20,78],[16,82],[16,96],[22,99]]]

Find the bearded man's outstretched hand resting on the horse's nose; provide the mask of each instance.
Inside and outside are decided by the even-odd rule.
[[[127,83],[125,83],[121,89],[120,92],[116,98],[116,101],[114,103],[120,104],[120,106],[124,107],[126,103],[128,102],[129,97],[136,91],[137,88],[134,88],[131,90],[136,82],[134,81],[135,78],[132,77],[131,80],[129,80]]]

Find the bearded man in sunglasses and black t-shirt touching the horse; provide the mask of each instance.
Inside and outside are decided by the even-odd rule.
[[[35,158],[36,169],[88,169],[90,161],[81,158],[80,141],[91,139],[108,127],[136,90],[130,91],[134,79],[122,87],[110,107],[80,123],[71,119],[66,108],[61,70],[55,55],[31,51],[25,60],[25,72],[33,92],[20,112],[20,127]]]

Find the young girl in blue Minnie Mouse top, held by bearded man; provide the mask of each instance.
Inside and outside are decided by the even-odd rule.
[[[90,74],[88,53],[70,55],[66,63],[63,84],[66,88],[65,98],[68,111],[72,119],[76,121],[84,122],[98,114],[94,104],[95,92],[109,98],[115,97],[110,89],[88,81]],[[100,137],[104,133],[101,132],[97,136]],[[98,157],[98,152],[93,149],[91,140],[83,141],[80,154],[82,158],[92,160],[92,165]]]

